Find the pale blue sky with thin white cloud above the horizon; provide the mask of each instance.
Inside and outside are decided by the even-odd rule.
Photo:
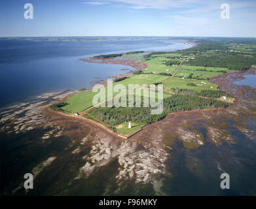
[[[0,20],[0,37],[256,37],[256,0],[1,0]]]

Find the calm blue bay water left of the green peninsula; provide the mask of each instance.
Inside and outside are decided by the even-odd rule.
[[[0,106],[50,91],[90,88],[90,82],[121,74],[124,65],[85,63],[80,58],[130,51],[174,51],[186,40],[136,38],[101,41],[0,39]],[[99,79],[94,78],[100,77]]]

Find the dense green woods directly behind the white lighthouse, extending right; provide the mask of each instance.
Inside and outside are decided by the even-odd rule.
[[[228,103],[213,98],[202,98],[199,95],[183,95],[177,93],[172,97],[164,99],[164,111],[162,114],[151,114],[151,107],[143,107],[143,101],[141,101],[141,107],[98,107],[90,110],[89,114],[103,121],[103,123],[115,126],[129,120],[146,124],[154,123],[164,118],[164,116],[170,112],[203,110],[206,108],[225,108],[227,106],[229,106]]]

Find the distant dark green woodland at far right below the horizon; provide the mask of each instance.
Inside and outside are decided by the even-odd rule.
[[[200,40],[200,44],[193,48],[179,51],[184,55],[196,55],[196,59],[190,59],[186,65],[204,67],[227,67],[230,70],[244,71],[256,64],[255,49],[250,53],[234,52],[230,46],[234,44],[256,44],[255,39],[239,38],[215,38],[212,40]]]

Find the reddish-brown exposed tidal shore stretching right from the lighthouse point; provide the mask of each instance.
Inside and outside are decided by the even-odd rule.
[[[247,71],[221,74],[219,76],[216,76],[214,78],[215,80],[211,81],[215,84],[218,84],[220,88],[224,88],[225,92],[232,93],[232,95],[234,95],[235,93],[236,99],[234,100],[234,103],[227,108],[212,108],[206,110],[173,112],[167,114],[162,120],[156,121],[156,123],[146,125],[141,133],[138,133],[131,139],[139,140],[141,137],[143,137],[145,140],[149,138],[149,141],[151,141],[153,140],[153,138],[160,138],[160,140],[163,140],[163,146],[166,148],[168,148],[169,146],[168,143],[174,143],[175,140],[181,140],[183,146],[189,149],[197,148],[198,146],[204,144],[206,140],[208,142],[211,141],[215,145],[221,144],[222,140],[232,142],[232,139],[230,139],[229,135],[227,135],[227,133],[225,133],[225,131],[221,129],[223,123],[219,121],[219,118],[223,116],[223,118],[230,118],[230,120],[234,120],[231,118],[233,118],[234,116],[238,116],[240,108],[246,108],[246,106],[244,106],[244,103],[249,105],[256,104],[254,101],[251,102],[246,99],[246,94],[244,93],[244,86],[234,84],[234,81],[241,78],[242,75],[255,73],[256,68],[251,68]],[[229,77],[230,75],[232,76],[231,78]],[[227,86],[231,86],[230,91],[226,89]],[[216,118],[218,118],[217,121],[219,121],[219,123],[211,123],[211,121],[215,120]],[[196,124],[200,124],[200,127],[204,127],[206,129],[207,138],[204,138],[204,140],[201,142],[197,141],[198,138],[193,138],[193,134],[196,135],[197,132],[194,130],[194,128],[191,129],[191,127],[193,127],[194,125],[196,126]],[[187,128],[187,125],[189,125],[190,128]],[[158,131],[158,129],[161,129],[161,131]],[[251,135],[247,133],[246,128],[244,128],[243,126],[238,126],[236,127],[236,129],[238,131],[242,131],[242,133],[244,133],[246,136],[251,137]],[[219,131],[219,133],[215,133],[216,131]],[[183,138],[184,134],[189,135],[189,137],[191,138]],[[222,137],[219,138],[220,136]],[[170,137],[173,140],[171,140],[171,142]],[[165,144],[166,140],[167,144]]]

